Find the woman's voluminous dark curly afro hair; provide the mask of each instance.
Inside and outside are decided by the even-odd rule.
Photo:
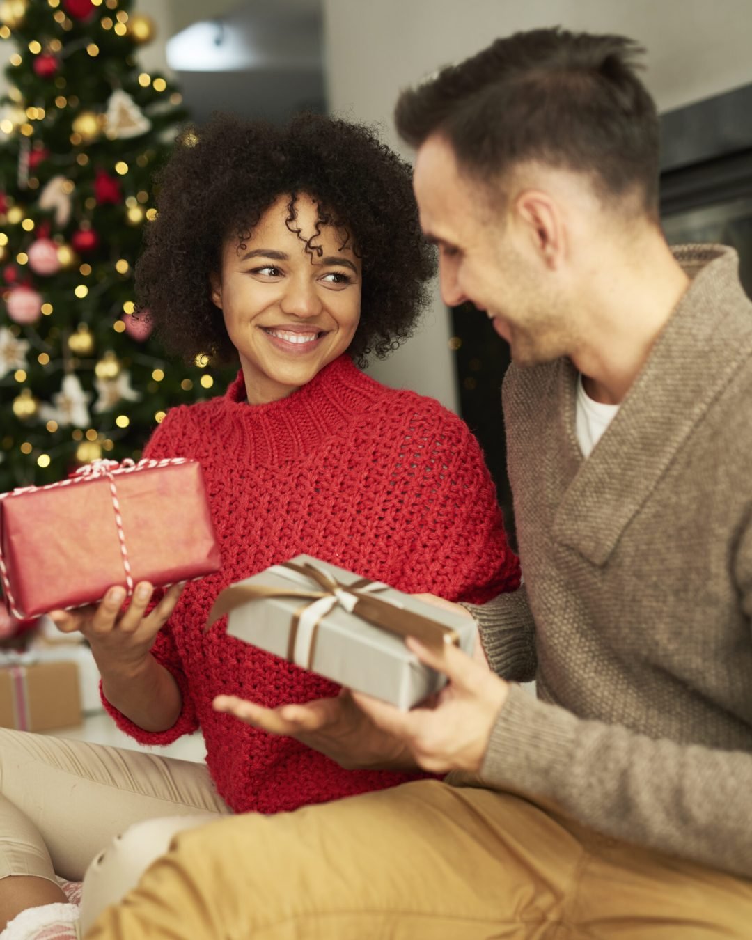
[[[227,241],[247,239],[283,195],[291,213],[296,196],[310,196],[321,225],[341,227],[362,259],[361,319],[349,349],[359,365],[410,337],[429,302],[436,261],[420,232],[412,168],[365,125],[315,114],[281,127],[215,115],[180,134],[155,185],[158,214],[136,293],[164,345],[186,360],[199,352],[235,359],[210,275],[221,271]],[[305,246],[312,256],[315,238]]]

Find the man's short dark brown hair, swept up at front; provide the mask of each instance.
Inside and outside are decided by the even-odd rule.
[[[399,134],[439,133],[472,177],[493,182],[540,161],[591,175],[599,195],[640,194],[658,214],[659,126],[635,74],[644,50],[623,36],[558,27],[496,39],[399,97]]]

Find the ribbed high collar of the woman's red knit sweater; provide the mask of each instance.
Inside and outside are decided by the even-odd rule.
[[[321,369],[286,399],[251,405],[243,371],[213,399],[213,431],[243,462],[280,466],[298,460],[384,397],[384,386],[369,379],[346,353]]]

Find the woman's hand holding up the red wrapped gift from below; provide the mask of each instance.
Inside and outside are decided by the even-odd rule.
[[[148,616],[144,616],[154,588],[147,581],[136,585],[128,610],[123,587],[111,587],[101,603],[77,610],[52,610],[49,617],[64,634],[80,630],[91,646],[100,672],[128,673],[143,666],[154,639],[180,599],[182,584],[165,592]]]

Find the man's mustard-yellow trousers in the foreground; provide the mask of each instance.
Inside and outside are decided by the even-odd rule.
[[[752,937],[752,882],[419,781],[183,832],[86,940]]]

